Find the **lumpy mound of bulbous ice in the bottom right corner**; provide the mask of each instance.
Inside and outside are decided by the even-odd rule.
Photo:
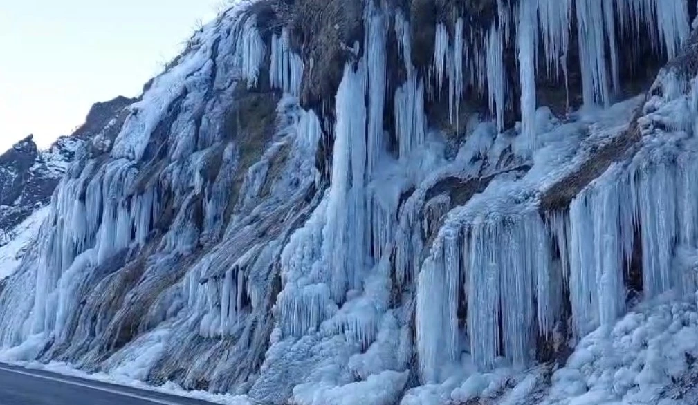
[[[697,359],[695,299],[667,293],[581,339],[543,404],[695,404],[677,393]]]

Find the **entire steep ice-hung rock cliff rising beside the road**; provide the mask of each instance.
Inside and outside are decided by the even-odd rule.
[[[0,293],[0,357],[255,404],[693,395],[695,13],[227,10],[54,149],[73,162]],[[8,196],[41,155],[3,157]]]

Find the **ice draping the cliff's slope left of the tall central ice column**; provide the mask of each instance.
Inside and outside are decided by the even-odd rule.
[[[163,364],[168,364],[167,356],[177,362],[186,357],[184,352],[201,350],[186,346],[195,345],[197,335],[239,337],[258,328],[260,336],[240,339],[244,347],[237,351],[239,369],[254,368],[254,356],[261,356],[268,339],[268,331],[258,324],[271,319],[267,303],[272,289],[266,277],[282,243],[255,239],[249,225],[260,215],[269,217],[267,227],[285,219],[293,223],[292,211],[302,206],[299,201],[315,182],[320,121],[300,110],[295,98],[283,97],[274,143],[250,167],[239,186],[238,204],[232,206],[241,151],[225,133],[226,114],[239,84],[258,86],[267,55],[255,16],[244,10],[234,8],[206,26],[179,63],[154,79],[142,100],[130,107],[119,135],[107,142],[112,143],[110,155],[99,155],[90,144],[77,152],[52,198],[40,247],[10,278],[0,298],[3,349],[22,348],[12,353],[29,360],[52,342],[47,356],[89,364],[110,352],[122,323],[136,321],[145,333],[179,317],[188,321],[152,333],[184,339],[171,342],[172,353],[160,354]],[[297,94],[302,64],[286,45],[277,45],[284,43],[281,39],[272,47],[279,62],[272,82]],[[274,178],[269,201],[260,204],[271,162],[286,145],[292,150],[284,161],[288,168]],[[211,168],[215,161],[218,167]],[[198,204],[200,210],[193,208]],[[170,226],[156,230],[166,210],[173,208]],[[226,228],[227,212],[232,218]],[[272,219],[274,213],[278,221]],[[250,244],[255,240],[258,245]],[[207,254],[193,255],[201,246]],[[188,263],[182,257],[196,259]],[[128,264],[131,259],[137,260]],[[181,273],[184,277],[177,282]],[[140,280],[128,284],[124,274]],[[160,292],[168,283],[174,286]],[[152,302],[147,297],[154,293]],[[139,308],[140,303],[151,307]],[[142,311],[135,316],[143,318],[129,319],[133,310]],[[252,321],[250,312],[255,314]],[[141,340],[149,342],[149,336],[145,333],[135,347]],[[128,367],[133,353],[128,348],[114,353],[105,367]],[[192,379],[200,378],[197,373],[218,375],[219,389],[230,389],[223,369],[190,371]],[[246,374],[239,378],[246,379]]]

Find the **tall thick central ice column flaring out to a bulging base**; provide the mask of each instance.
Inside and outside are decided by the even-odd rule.
[[[362,289],[366,270],[373,264],[371,206],[367,187],[382,153],[383,108],[386,91],[386,16],[366,8],[364,46],[371,49],[356,68],[348,63],[336,97],[336,128],[332,152],[332,183],[305,227],[285,247],[282,261],[285,289],[279,296],[285,335],[302,336],[318,328],[338,310],[350,290]],[[364,104],[361,100],[366,99]],[[384,232],[385,234],[385,232]],[[384,252],[385,240],[373,240]],[[377,258],[376,261],[380,261]],[[384,304],[385,305],[385,304]],[[365,346],[375,335],[373,321],[347,328]],[[370,333],[367,333],[370,331]]]

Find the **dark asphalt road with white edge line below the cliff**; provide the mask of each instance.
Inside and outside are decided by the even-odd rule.
[[[0,364],[0,405],[211,405],[198,401]]]

